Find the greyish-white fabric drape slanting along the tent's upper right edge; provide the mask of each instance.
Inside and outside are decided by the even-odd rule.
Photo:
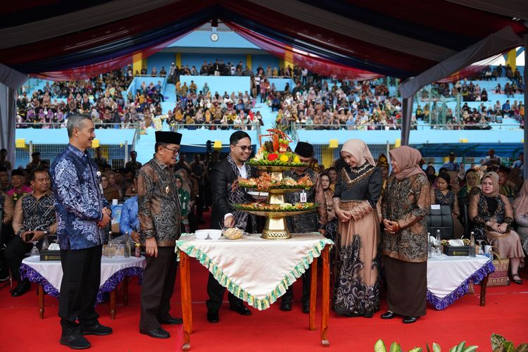
[[[513,32],[512,27],[505,27],[401,84],[401,96],[403,99],[408,98],[427,84],[452,75],[474,62],[521,45],[522,38]]]

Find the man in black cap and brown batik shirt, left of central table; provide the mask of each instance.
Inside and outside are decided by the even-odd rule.
[[[170,297],[176,278],[176,240],[180,238],[180,201],[172,167],[180,153],[182,134],[156,131],[154,157],[137,177],[137,215],[146,267],[142,284],[139,332],[156,339],[170,334],[161,324],[182,324],[170,316]]]

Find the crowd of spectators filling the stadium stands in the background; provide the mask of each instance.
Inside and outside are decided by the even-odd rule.
[[[136,75],[149,76],[146,68]],[[251,87],[245,92],[220,94],[210,92],[208,84],[197,87],[194,80],[180,82],[180,75],[246,75],[251,77]],[[222,59],[204,61],[200,70],[184,65],[178,68],[172,63],[158,72],[154,67],[150,76],[168,77],[175,84],[175,107],[163,111],[162,79],[157,83],[142,82],[135,93],[123,92],[133,78],[132,66],[99,75],[90,80],[76,82],[46,82],[43,89],[27,95],[22,92],[17,100],[17,127],[58,128],[64,127],[68,113],[83,112],[92,115],[102,127],[134,127],[142,131],[155,125],[156,118],[166,120],[173,127],[196,129],[202,125],[210,129],[251,130],[263,125],[256,103],[265,103],[277,112],[275,122],[285,128],[296,125],[306,130],[398,130],[401,124],[401,101],[389,94],[387,80],[340,81],[321,77],[306,68],[271,68],[258,65],[255,73],[241,61],[234,65]],[[279,90],[270,83],[269,77],[291,77],[289,84]],[[522,121],[522,101],[496,101],[486,104],[488,93],[472,80],[492,80],[508,77],[511,82],[496,92],[510,96],[523,92],[524,84],[519,70],[499,65],[486,67],[469,80],[433,84],[432,88],[445,97],[461,96],[465,102],[460,114],[453,112],[437,99],[429,99],[429,89],[422,89],[412,117],[415,129],[417,120],[423,120],[438,128],[449,130],[489,129],[490,122],[501,122],[503,117]],[[65,99],[58,101],[57,99]],[[478,108],[471,108],[467,101],[482,101]],[[194,126],[196,125],[196,126]],[[210,125],[210,126],[207,126]],[[439,126],[441,125],[441,126]],[[101,127],[98,125],[98,127]]]

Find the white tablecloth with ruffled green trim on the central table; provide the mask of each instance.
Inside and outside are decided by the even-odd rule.
[[[258,310],[270,307],[309,268],[313,258],[333,242],[318,233],[292,234],[291,239],[180,237],[177,247],[196,258],[232,294]]]

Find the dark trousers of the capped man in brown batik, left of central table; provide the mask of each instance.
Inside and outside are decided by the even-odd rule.
[[[146,257],[139,329],[156,329],[160,327],[160,320],[169,318],[170,297],[174,291],[176,268],[174,246],[158,246],[158,258]]]

